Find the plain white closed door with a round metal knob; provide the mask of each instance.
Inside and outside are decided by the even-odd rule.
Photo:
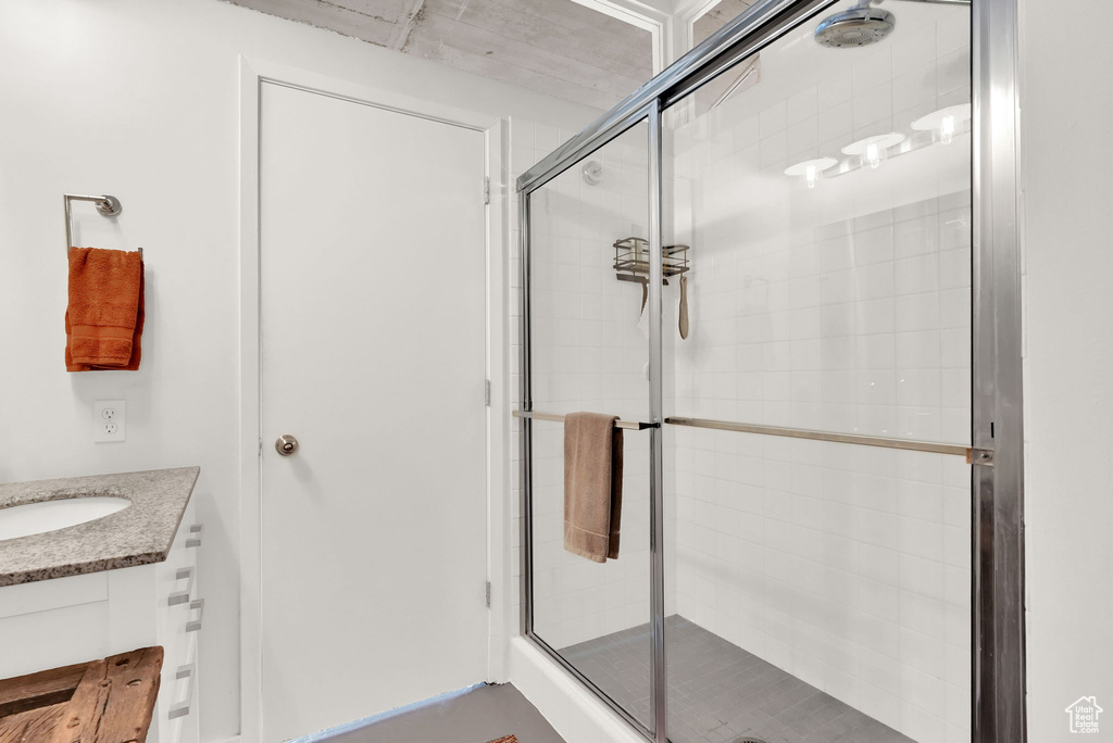
[[[484,681],[485,156],[273,83],[259,127],[272,743]]]

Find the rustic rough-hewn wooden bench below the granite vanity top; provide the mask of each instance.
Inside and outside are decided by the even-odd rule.
[[[0,743],[144,743],[162,648],[0,681]]]

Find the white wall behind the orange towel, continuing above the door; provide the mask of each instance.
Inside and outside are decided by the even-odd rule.
[[[0,481],[200,465],[206,741],[239,727],[240,53],[570,130],[598,115],[211,0],[3,3]],[[138,373],[65,370],[63,191],[124,204],[116,224],[78,205],[81,245],[146,250]],[[102,398],[127,399],[127,443],[91,443]]]

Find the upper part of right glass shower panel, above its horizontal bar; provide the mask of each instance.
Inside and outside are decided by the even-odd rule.
[[[884,41],[821,47],[809,22],[758,82],[666,112],[686,415],[968,440],[969,10],[890,7]]]

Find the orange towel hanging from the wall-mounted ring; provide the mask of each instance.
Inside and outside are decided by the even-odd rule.
[[[139,368],[144,266],[138,252],[69,252],[66,370]]]

